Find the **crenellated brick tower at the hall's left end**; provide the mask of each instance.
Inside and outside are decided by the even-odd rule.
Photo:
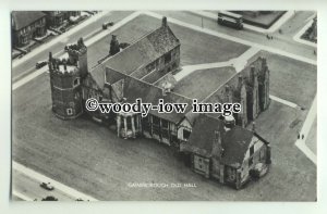
[[[75,118],[83,113],[81,72],[69,60],[53,59],[49,53],[52,111],[59,118]]]

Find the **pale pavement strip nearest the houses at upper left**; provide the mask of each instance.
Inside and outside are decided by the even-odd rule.
[[[24,55],[22,59],[13,61],[12,63],[12,67],[15,67],[17,65],[20,65],[21,63],[25,62],[26,60],[33,58],[34,55],[47,50],[49,47],[53,46],[55,43],[58,43],[60,41],[62,41],[65,37],[78,32],[80,29],[82,29],[83,27],[94,23],[95,21],[99,20],[100,17],[107,15],[108,13],[110,13],[110,11],[104,11],[100,12],[96,15],[94,15],[93,17],[89,17],[87,21],[85,21],[84,23],[81,23],[80,25],[73,27],[72,29],[70,29],[69,32],[60,35],[59,37],[52,39],[51,41],[36,48],[35,50],[33,50],[31,53]]]

